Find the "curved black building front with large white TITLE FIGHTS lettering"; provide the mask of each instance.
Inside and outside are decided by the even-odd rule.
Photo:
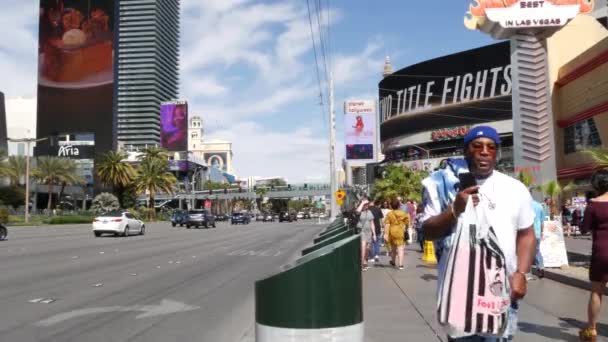
[[[464,135],[484,124],[500,133],[500,167],[512,172],[509,49],[502,42],[387,72],[379,84],[384,161],[432,171],[462,156]]]

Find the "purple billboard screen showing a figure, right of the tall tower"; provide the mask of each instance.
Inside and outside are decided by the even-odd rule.
[[[160,146],[169,151],[188,150],[188,103],[186,101],[161,104]]]

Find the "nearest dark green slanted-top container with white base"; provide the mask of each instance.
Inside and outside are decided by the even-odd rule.
[[[363,341],[360,251],[351,234],[256,282],[256,341]]]

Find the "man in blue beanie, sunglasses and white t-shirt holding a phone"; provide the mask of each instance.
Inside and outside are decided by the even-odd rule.
[[[458,192],[453,201],[442,211],[437,191],[425,187],[425,218],[422,230],[429,240],[444,239],[454,232],[458,217],[464,212],[469,196],[475,205],[487,206],[500,247],[505,254],[507,272],[511,284],[512,306],[509,313],[507,339],[511,339],[517,326],[517,301],[527,292],[526,274],[534,259],[536,238],[534,235],[534,211],[532,196],[518,180],[494,170],[500,137],[488,126],[471,129],[464,138],[465,160],[477,180],[477,186]],[[483,200],[481,200],[483,199]],[[480,204],[481,203],[481,204]],[[447,239],[449,240],[449,239]],[[446,248],[451,248],[448,244]],[[439,272],[445,271],[445,255],[440,260]],[[441,274],[439,279],[442,279]],[[496,338],[469,336],[449,341],[498,341]]]

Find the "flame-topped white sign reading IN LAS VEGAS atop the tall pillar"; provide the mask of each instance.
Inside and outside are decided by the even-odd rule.
[[[464,24],[496,38],[517,29],[561,27],[581,13],[593,10],[595,0],[473,0]],[[498,24],[500,27],[497,27]],[[509,32],[513,31],[513,32]]]

